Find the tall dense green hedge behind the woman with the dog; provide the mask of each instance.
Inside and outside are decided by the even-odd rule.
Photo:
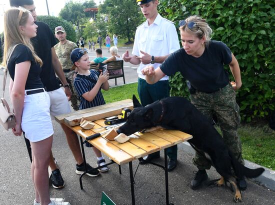
[[[223,41],[236,56],[242,78],[237,91],[246,121],[267,118],[275,109],[275,1],[272,0],[160,0],[159,12],[176,22],[200,15],[213,29],[212,39]],[[226,66],[226,69],[229,68]],[[229,71],[230,73],[230,71]],[[171,82],[172,95],[186,95],[180,74]],[[175,79],[176,78],[176,79]],[[230,73],[230,79],[233,77]],[[182,91],[183,90],[183,91]]]

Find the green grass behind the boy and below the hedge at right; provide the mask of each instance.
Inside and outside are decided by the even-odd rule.
[[[133,94],[138,98],[137,83],[112,87],[102,93],[106,103],[131,99]],[[243,158],[275,170],[275,131],[268,127],[267,122],[242,124],[238,133]]]

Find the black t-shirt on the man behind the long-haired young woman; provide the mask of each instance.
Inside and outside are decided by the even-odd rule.
[[[36,32],[37,35],[31,38],[31,42],[34,51],[43,61],[40,78],[45,85],[46,90],[52,91],[60,87],[51,64],[51,48],[56,44],[56,40],[46,23],[36,21],[35,24],[38,25]]]

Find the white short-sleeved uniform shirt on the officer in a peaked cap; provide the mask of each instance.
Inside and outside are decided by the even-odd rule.
[[[158,13],[151,25],[148,25],[148,19],[139,25],[135,31],[132,54],[142,56],[140,50],[147,52],[153,56],[164,56],[170,54],[180,48],[177,32],[172,21],[163,18]],[[137,68],[138,77],[145,79],[141,70],[152,65],[157,68],[160,63],[139,64]],[[168,76],[162,77],[160,80],[167,80]]]

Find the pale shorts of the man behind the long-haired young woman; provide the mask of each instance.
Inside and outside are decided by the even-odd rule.
[[[56,115],[71,112],[68,98],[61,87],[53,91],[48,91],[47,93],[50,98],[49,112],[52,119]]]

